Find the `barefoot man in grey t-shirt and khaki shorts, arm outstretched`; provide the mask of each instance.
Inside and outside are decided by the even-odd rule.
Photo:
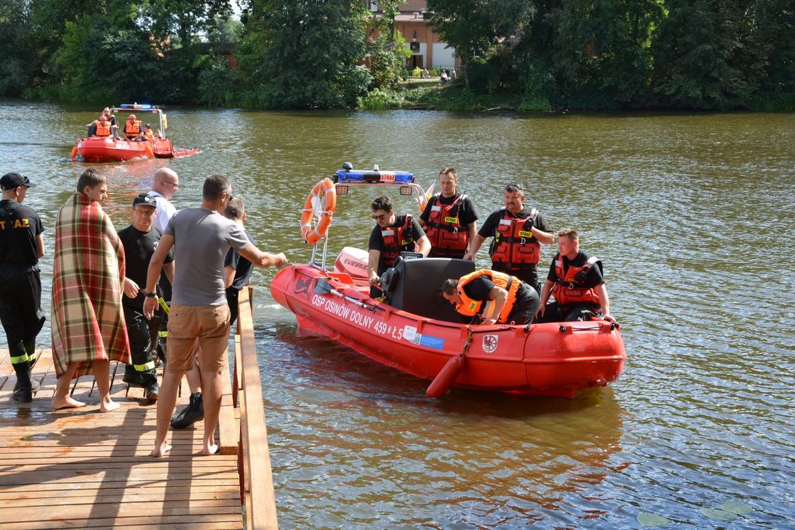
[[[171,450],[166,440],[176,390],[182,374],[192,367],[193,343],[198,338],[202,355],[200,371],[204,401],[204,440],[202,453],[213,455],[215,425],[221,408],[221,370],[229,342],[229,305],[223,274],[223,259],[230,248],[257,267],[284,267],[283,253],[262,252],[251,244],[242,226],[223,217],[232,198],[232,186],[223,175],[210,175],[204,181],[200,208],[180,210],[170,220],[157,250],[149,262],[144,296],[144,314],[151,318],[157,305],[157,278],[165,256],[174,247],[173,294],[169,313],[169,362],[165,365],[160,396],[157,399],[157,432],[154,457]]]

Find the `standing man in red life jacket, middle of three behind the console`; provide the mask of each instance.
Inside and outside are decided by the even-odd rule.
[[[439,171],[441,193],[430,198],[420,216],[420,226],[431,242],[431,258],[463,258],[477,234],[475,205],[467,194],[456,191],[457,185],[455,167]]]

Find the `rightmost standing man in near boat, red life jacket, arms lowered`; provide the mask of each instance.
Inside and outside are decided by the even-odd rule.
[[[463,259],[475,259],[483,241],[494,237],[489,248],[491,268],[518,277],[540,293],[541,244],[553,244],[555,235],[541,212],[525,208],[524,200],[522,186],[510,182],[505,188],[505,206],[487,217]]]

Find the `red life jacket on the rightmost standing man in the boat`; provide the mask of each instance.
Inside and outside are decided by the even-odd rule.
[[[494,241],[489,249],[493,263],[506,263],[506,268],[512,271],[537,267],[541,244],[530,231],[537,215],[538,210],[533,208],[529,217],[510,217],[508,210],[502,207],[502,218],[494,230]]]

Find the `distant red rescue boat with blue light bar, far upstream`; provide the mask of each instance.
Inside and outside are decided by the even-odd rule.
[[[156,122],[159,125],[157,136],[153,140],[140,142],[116,139],[113,136],[87,136],[77,140],[77,144],[72,148],[72,159],[80,156],[83,162],[121,162],[139,158],[189,156],[199,152],[199,149],[174,148],[171,140],[165,137],[165,129],[169,126],[167,117],[157,106],[132,103],[111,107],[112,113],[118,113],[119,110],[156,114]]]

